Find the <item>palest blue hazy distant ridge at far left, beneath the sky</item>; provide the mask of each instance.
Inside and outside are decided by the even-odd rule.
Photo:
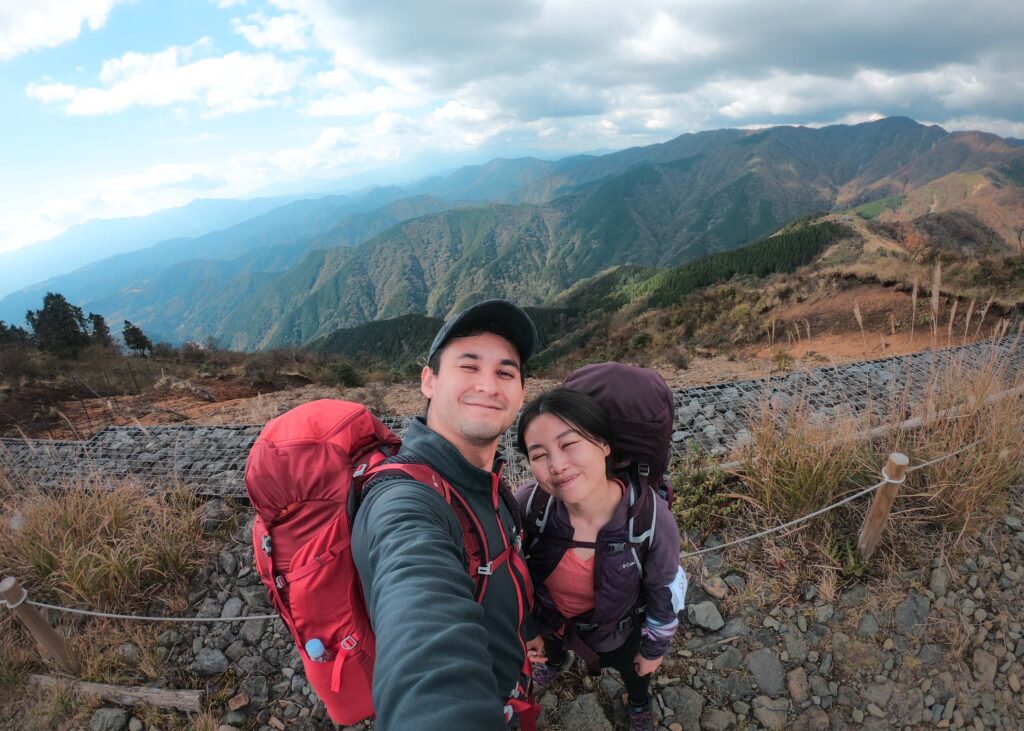
[[[293,200],[202,200],[147,216],[86,221],[48,241],[0,254],[0,297],[115,254],[226,228]]]

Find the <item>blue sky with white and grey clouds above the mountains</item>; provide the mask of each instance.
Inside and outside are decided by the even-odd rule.
[[[1020,0],[0,0],[0,252],[91,218],[685,132],[1024,137]]]

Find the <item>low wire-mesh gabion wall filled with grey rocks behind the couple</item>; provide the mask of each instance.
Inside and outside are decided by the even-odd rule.
[[[714,457],[726,455],[745,438],[752,413],[765,401],[782,410],[803,402],[823,421],[867,412],[884,418],[894,403],[920,402],[936,374],[957,364],[981,367],[993,358],[1013,378],[1024,368],[1024,344],[1011,336],[998,342],[683,389],[675,394],[673,449],[682,454],[696,444]],[[383,421],[400,433],[409,419]],[[0,470],[13,481],[43,486],[66,483],[83,469],[93,469],[111,476],[173,480],[195,486],[200,494],[243,496],[246,459],[261,428],[109,427],[87,441],[0,439]],[[502,450],[509,461],[507,476],[516,483],[524,476],[524,465],[514,444],[515,427],[504,435]]]

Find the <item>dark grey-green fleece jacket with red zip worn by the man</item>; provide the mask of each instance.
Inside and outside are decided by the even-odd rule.
[[[429,464],[466,498],[492,557],[505,548],[503,529],[515,541],[507,502],[495,507],[497,473],[469,464],[421,420],[406,430],[398,460]],[[477,603],[463,543],[452,508],[427,485],[387,476],[371,483],[352,527],[352,555],[377,636],[377,728],[506,728],[505,700],[524,659],[529,579],[517,583],[505,562]]]

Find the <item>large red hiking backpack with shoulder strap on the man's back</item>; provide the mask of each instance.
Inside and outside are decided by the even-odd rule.
[[[298,645],[306,680],[336,724],[374,715],[375,640],[350,547],[359,493],[371,474],[400,472],[452,506],[477,601],[486,591],[487,576],[477,569],[489,557],[475,514],[429,466],[381,465],[399,445],[361,404],[323,399],[268,422],[246,465],[246,490],[256,510],[256,569]],[[323,642],[326,661],[306,652],[314,639]]]

